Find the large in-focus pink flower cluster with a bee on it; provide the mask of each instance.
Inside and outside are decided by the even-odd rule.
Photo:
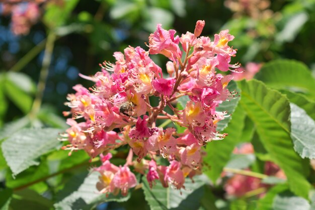
[[[97,184],[101,192],[125,195],[134,187],[129,166],[146,174],[151,187],[160,181],[165,187],[184,188],[185,177],[201,173],[202,147],[226,135],[216,131],[216,123],[226,113],[215,108],[235,93],[227,89],[232,77],[216,74],[216,69],[235,71],[240,65],[230,64],[236,51],[228,46],[234,38],[228,30],[211,41],[199,37],[204,24],[198,21],[194,33],[181,37],[157,25],[149,36],[149,51],[129,46],[124,53],[115,52],[115,63],[103,62],[102,71],[93,77],[82,75],[95,82],[94,87],[76,85],[76,93],[68,94],[65,104],[71,110],[64,115],[71,115],[67,119],[71,127],[64,139],[70,145],[63,149],[85,150],[92,158],[101,155],[103,165],[95,169],[101,174]],[[168,76],[149,54],[163,54],[171,60],[166,63]],[[176,101],[184,96],[190,100],[180,110]],[[150,103],[154,97],[159,98],[157,106]],[[76,122],[78,118],[83,120]],[[157,119],[169,119],[187,129],[179,133],[173,127],[159,126]],[[110,152],[118,147],[130,147],[126,164],[119,167],[109,161]]]

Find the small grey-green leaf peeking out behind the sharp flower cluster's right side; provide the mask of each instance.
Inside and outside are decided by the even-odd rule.
[[[240,89],[238,88],[237,84],[234,81],[230,81],[227,85],[227,89],[230,92],[237,91],[238,94],[241,93]],[[225,117],[223,120],[218,121],[217,123],[217,131],[222,131],[227,125],[228,122],[232,118],[232,114],[237,107],[241,97],[238,97],[239,95],[235,95],[235,98],[223,101],[215,110],[218,112],[227,112],[229,116]]]

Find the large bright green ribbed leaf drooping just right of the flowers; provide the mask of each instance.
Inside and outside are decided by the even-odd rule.
[[[290,105],[287,98],[257,80],[241,81],[239,87],[242,89],[241,104],[255,123],[265,149],[285,172],[292,192],[307,198],[310,184],[305,179],[307,169],[295,153],[290,138]]]

